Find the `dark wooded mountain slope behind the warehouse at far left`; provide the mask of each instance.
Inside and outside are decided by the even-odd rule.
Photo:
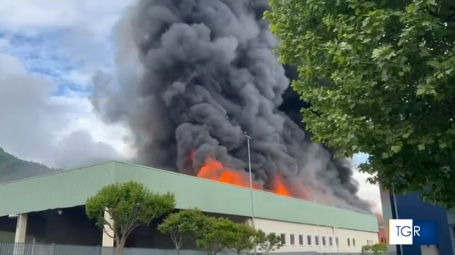
[[[58,170],[46,167],[44,164],[21,160],[0,148],[0,183],[40,176],[55,171]]]

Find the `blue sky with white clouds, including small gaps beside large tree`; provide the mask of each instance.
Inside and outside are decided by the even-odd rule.
[[[114,72],[114,27],[133,2],[0,1],[0,146],[52,167],[134,154],[128,130],[100,121],[88,98],[93,75]],[[367,177],[355,173],[376,201]]]

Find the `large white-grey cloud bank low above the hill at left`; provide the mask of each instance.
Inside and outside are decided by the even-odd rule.
[[[50,77],[31,75],[15,56],[0,54],[0,145],[51,167],[121,157],[125,129],[99,121],[86,97],[51,96],[55,89]]]

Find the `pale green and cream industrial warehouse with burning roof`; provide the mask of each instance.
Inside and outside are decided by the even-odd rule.
[[[236,222],[252,220],[251,190],[245,187],[107,162],[1,184],[0,231],[16,232],[16,242],[112,246],[114,241],[86,218],[84,203],[103,186],[128,181],[152,192],[173,192],[177,209],[197,207]],[[259,190],[253,195],[255,226],[282,236],[279,252],[355,254],[378,242],[375,215]],[[172,249],[169,237],[155,229],[160,220],[136,229],[126,246]]]

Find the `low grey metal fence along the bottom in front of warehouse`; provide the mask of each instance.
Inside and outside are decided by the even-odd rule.
[[[331,252],[332,255],[361,255],[360,253]],[[0,243],[0,255],[116,255],[115,247],[54,245],[38,243]],[[126,247],[123,255],[176,255],[173,249],[146,249]],[[180,255],[206,255],[196,250],[180,250]],[[236,255],[234,252],[219,252],[217,255]],[[242,254],[245,255],[245,254]],[[263,255],[258,253],[257,255]],[[329,255],[318,252],[274,252],[273,255]],[[373,254],[371,254],[373,255]],[[386,254],[375,254],[386,255]],[[388,254],[392,255],[392,254]]]

